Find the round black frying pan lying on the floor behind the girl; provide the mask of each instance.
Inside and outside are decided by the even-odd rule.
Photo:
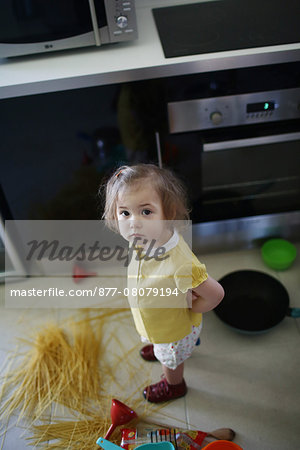
[[[275,278],[255,270],[239,270],[219,280],[225,296],[214,309],[230,327],[243,333],[261,333],[279,324],[286,315],[300,317],[300,308],[289,308],[289,295]]]

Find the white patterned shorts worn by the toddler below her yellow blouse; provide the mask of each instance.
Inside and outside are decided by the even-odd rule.
[[[167,344],[153,344],[154,355],[164,366],[176,369],[183,361],[189,358],[193,352],[202,329],[202,322],[198,327],[192,328],[192,332],[176,342]],[[145,341],[145,339],[142,339]]]

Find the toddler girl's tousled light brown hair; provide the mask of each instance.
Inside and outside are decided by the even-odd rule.
[[[186,190],[182,182],[168,169],[154,164],[121,166],[112,174],[105,188],[105,207],[102,218],[107,226],[118,232],[117,200],[118,193],[124,187],[149,180],[160,196],[166,220],[188,220]],[[101,187],[99,190],[101,193]]]

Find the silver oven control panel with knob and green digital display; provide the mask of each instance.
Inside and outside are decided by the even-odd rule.
[[[170,133],[300,118],[300,88],[168,103]]]

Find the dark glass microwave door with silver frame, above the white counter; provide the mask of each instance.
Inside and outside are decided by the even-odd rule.
[[[93,0],[4,0],[0,56],[100,45],[98,21]]]

